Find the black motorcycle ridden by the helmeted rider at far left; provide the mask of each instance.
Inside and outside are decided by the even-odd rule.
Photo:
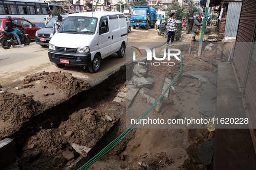
[[[16,33],[19,36],[20,42],[23,42],[24,45],[29,45],[31,38],[28,34],[25,34],[24,28],[16,29]],[[11,45],[18,45],[19,42],[17,38],[10,32],[0,31],[2,38],[0,39],[0,44],[4,49],[9,49]]]

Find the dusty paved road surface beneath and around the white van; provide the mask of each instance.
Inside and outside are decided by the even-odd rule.
[[[133,50],[131,50],[130,46],[155,48],[162,44],[155,42],[144,44],[141,42],[129,42],[126,46],[126,54],[132,57]],[[5,50],[0,47],[0,84],[3,85],[3,89],[13,88],[17,80],[24,79],[24,76],[28,74],[59,70],[71,72],[72,76],[84,79],[91,86],[94,86],[107,79],[111,73],[126,64],[126,56],[120,59],[117,54],[113,54],[103,60],[100,71],[97,73],[91,73],[87,68],[83,69],[76,66],[65,66],[59,69],[49,61],[47,51],[48,47],[41,47],[35,41],[23,48],[16,46]]]

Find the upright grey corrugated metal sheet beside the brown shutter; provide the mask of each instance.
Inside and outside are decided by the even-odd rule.
[[[228,4],[225,35],[229,37],[237,36],[241,7],[242,2],[230,2]]]

